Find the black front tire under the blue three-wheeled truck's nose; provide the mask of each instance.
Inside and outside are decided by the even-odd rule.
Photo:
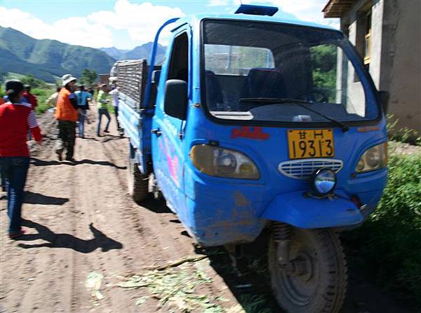
[[[281,267],[271,237],[269,272],[279,305],[290,313],[339,312],[347,291],[348,271],[338,234],[330,229],[291,227],[290,235],[290,260],[304,260],[301,264],[310,270],[297,274]]]

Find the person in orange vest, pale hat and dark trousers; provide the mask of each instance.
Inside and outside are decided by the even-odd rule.
[[[66,160],[74,161],[74,143],[76,141],[76,121],[79,119],[79,107],[74,94],[76,90],[76,77],[71,74],[62,76],[63,88],[58,93],[55,109],[55,119],[58,121],[58,141],[55,153],[59,161],[62,161],[62,153],[65,149]]]

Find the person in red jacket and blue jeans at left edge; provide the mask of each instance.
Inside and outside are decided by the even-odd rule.
[[[42,135],[31,105],[22,103],[23,84],[15,79],[6,81],[6,93],[8,102],[0,105],[0,166],[8,195],[8,232],[14,239],[23,234],[20,213],[29,168],[27,133],[30,130],[39,145]]]

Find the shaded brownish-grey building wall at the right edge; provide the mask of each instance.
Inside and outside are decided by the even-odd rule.
[[[421,132],[421,1],[385,0],[380,88],[399,127]]]

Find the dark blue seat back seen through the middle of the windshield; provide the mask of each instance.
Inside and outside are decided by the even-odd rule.
[[[283,77],[278,69],[252,68],[248,72],[243,98],[285,98]]]

